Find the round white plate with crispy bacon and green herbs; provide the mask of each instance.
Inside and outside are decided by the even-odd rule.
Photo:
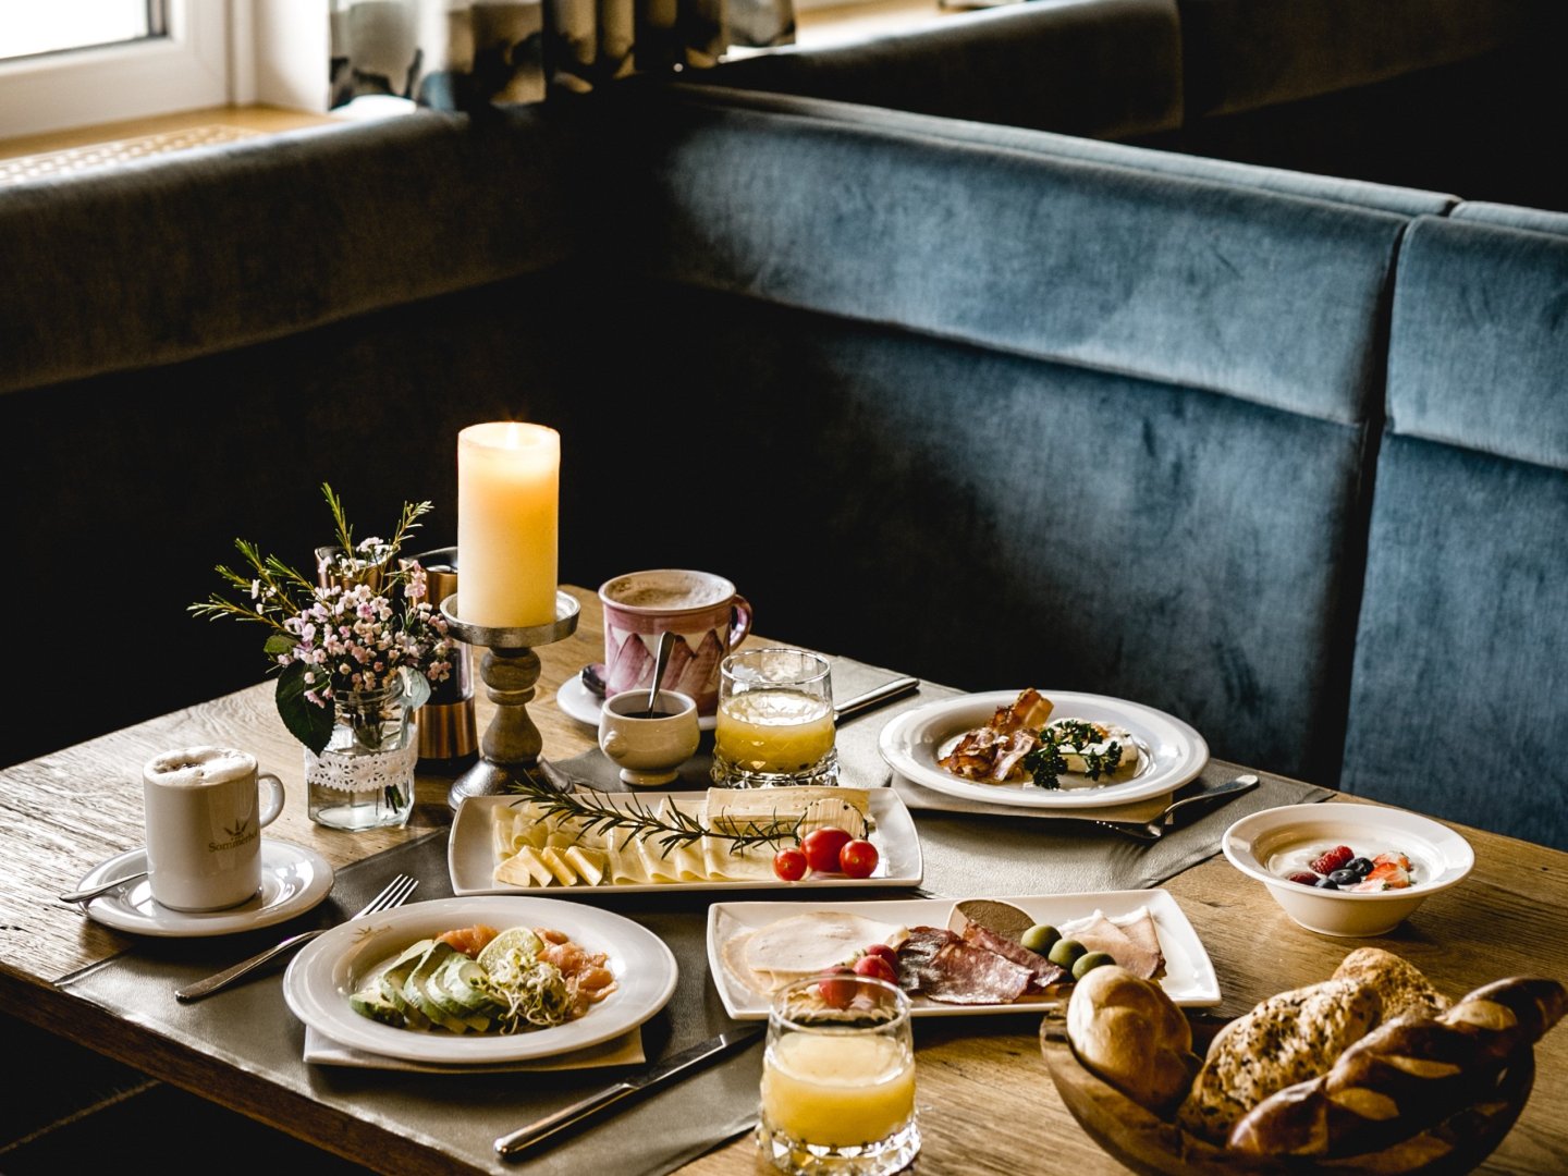
[[[1203,735],[1163,710],[1104,695],[1040,693],[1054,704],[1052,718],[1082,718],[1131,731],[1142,745],[1137,773],[1112,784],[1063,773],[1060,789],[1036,789],[1032,784],[982,784],[936,767],[961,734],[985,726],[999,707],[1011,706],[1018,690],[964,695],[906,710],[883,728],[877,746],[887,767],[916,784],[964,800],[1030,809],[1093,809],[1159,797],[1195,779],[1209,762]]]

